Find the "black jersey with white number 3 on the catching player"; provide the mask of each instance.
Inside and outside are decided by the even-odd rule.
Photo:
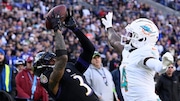
[[[51,72],[52,70],[46,71],[41,75],[41,83],[47,91],[47,80]],[[51,92],[49,92],[49,94],[51,94]],[[99,101],[83,74],[75,68],[73,63],[67,63],[58,92],[56,95],[51,96],[53,96],[56,101]]]

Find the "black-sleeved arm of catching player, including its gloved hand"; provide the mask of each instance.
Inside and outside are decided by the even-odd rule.
[[[74,32],[81,43],[83,52],[80,54],[80,57],[75,64],[75,68],[77,68],[81,73],[84,73],[91,63],[95,47],[85,34],[77,28],[76,21],[72,16],[69,16],[69,18],[66,19],[65,26]]]

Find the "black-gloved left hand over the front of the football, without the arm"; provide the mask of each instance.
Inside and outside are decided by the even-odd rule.
[[[62,27],[62,23],[60,21],[60,15],[55,15],[54,11],[52,12],[52,16],[51,17],[48,16],[47,19],[51,23],[54,31],[57,31]]]

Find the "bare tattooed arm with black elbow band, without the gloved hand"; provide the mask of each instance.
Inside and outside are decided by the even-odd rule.
[[[55,31],[55,48],[56,63],[49,78],[49,89],[51,89],[54,94],[58,91],[59,82],[64,74],[64,69],[68,60],[64,38],[60,30]]]

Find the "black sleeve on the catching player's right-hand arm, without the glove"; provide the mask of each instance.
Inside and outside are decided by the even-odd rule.
[[[81,43],[81,46],[83,48],[83,52],[80,54],[80,57],[78,58],[75,64],[75,67],[81,73],[84,73],[91,63],[91,59],[92,59],[95,47],[91,43],[91,41],[84,35],[84,33],[80,31],[78,28],[74,29],[73,32],[78,37]]]

